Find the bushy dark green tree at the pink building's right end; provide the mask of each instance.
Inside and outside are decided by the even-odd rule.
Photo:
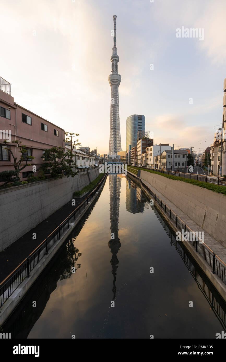
[[[50,173],[55,179],[62,178],[63,175],[74,177],[77,172],[73,171],[75,163],[71,155],[73,156],[71,151],[65,152],[63,147],[47,148],[41,157],[44,163],[41,164],[39,170]]]

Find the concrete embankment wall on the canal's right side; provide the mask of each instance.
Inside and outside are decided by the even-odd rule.
[[[226,247],[225,195],[143,170],[140,177]]]

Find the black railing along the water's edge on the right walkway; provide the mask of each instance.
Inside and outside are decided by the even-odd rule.
[[[218,277],[226,284],[226,264],[202,241],[198,236],[198,232],[192,231],[185,223],[182,221],[173,210],[170,209],[166,203],[160,199],[155,192],[153,192],[142,180],[140,177],[137,177],[135,174],[132,174],[127,169],[127,174],[130,174],[132,177],[136,178],[145,190],[152,196],[152,198],[158,203],[161,207],[161,210],[169,216],[169,219],[176,225],[176,227],[182,232],[189,232],[189,241],[196,249],[196,252],[199,253],[207,262],[207,264],[212,268],[213,274],[217,274]]]

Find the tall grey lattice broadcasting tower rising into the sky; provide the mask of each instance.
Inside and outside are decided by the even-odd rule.
[[[108,81],[111,86],[111,112],[110,112],[110,139],[109,139],[109,155],[117,155],[122,150],[120,123],[119,123],[119,84],[121,76],[118,74],[119,56],[116,48],[116,15],[114,19],[114,47],[111,56],[111,74]]]

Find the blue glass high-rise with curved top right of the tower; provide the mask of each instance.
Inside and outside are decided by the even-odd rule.
[[[126,151],[137,145],[137,133],[145,135],[145,115],[132,114],[126,119]]]

